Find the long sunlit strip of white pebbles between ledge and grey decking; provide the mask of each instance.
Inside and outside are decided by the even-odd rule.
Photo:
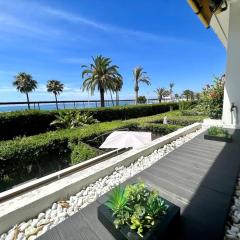
[[[45,212],[39,213],[34,219],[22,222],[7,233],[0,236],[0,240],[33,240],[53,228],[69,216],[94,202],[98,197],[110,191],[115,186],[123,183],[127,179],[150,167],[159,159],[167,155],[169,152],[193,139],[195,136],[204,131],[204,128],[193,133],[180,137],[177,140],[164,145],[164,147],[155,150],[152,154],[146,157],[140,157],[136,162],[128,167],[117,167],[115,171],[104,178],[98,179],[95,183],[90,184],[85,189],[82,189],[68,200],[58,201]],[[240,220],[240,198],[239,200],[239,220]],[[239,228],[238,228],[239,230]],[[233,238],[228,238],[233,239]],[[240,239],[240,238],[237,238]]]

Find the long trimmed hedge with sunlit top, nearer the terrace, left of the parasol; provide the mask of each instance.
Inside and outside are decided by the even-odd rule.
[[[114,129],[132,127],[132,123],[115,121],[84,128],[65,129],[21,139],[0,142],[0,179],[4,175],[26,177],[30,165],[44,165],[51,159],[63,163],[71,147]]]

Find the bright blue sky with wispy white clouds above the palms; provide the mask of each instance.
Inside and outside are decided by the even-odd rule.
[[[61,100],[88,99],[80,90],[81,65],[111,57],[124,78],[120,98],[133,98],[132,69],[143,66],[152,85],[200,91],[225,71],[225,49],[185,0],[0,0],[0,101],[24,101],[12,87],[16,73],[31,73],[31,100],[51,100],[46,82],[65,84]],[[92,99],[98,99],[98,92]]]

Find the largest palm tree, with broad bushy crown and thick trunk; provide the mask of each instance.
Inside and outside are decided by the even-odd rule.
[[[85,68],[82,72],[82,78],[86,77],[82,84],[82,90],[94,93],[97,88],[100,92],[101,107],[104,107],[104,94],[114,88],[114,81],[122,76],[118,72],[118,66],[111,65],[110,58],[102,55],[93,57],[93,63],[89,66],[83,65]]]

